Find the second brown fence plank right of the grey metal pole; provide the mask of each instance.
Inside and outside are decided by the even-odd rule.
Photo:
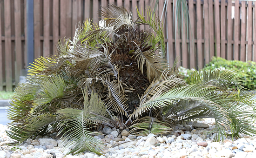
[[[44,0],[44,48],[43,56],[46,57],[50,54],[50,0]]]

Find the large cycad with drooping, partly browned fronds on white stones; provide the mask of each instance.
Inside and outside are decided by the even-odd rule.
[[[171,126],[195,118],[215,118],[216,140],[239,132],[256,133],[253,95],[244,92],[239,72],[194,74],[187,85],[169,68],[161,21],[150,12],[138,19],[110,5],[99,25],[87,20],[74,40],[60,40],[57,55],[35,59],[27,83],[12,99],[7,134],[19,143],[47,134],[49,125],[63,134],[71,152],[100,154],[92,129],[99,125],[131,128],[135,134],[171,132]],[[141,30],[140,25],[149,25]]]

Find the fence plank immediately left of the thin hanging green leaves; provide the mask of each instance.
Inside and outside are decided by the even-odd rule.
[[[173,67],[173,63],[174,63],[174,44],[173,44],[173,7],[172,7],[172,1],[169,0],[168,1],[168,9],[167,9],[167,13],[168,16],[167,18],[167,24],[168,24],[168,62],[170,65],[170,68]]]

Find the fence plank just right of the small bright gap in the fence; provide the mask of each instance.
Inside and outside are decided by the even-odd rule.
[[[240,13],[239,13],[239,1],[235,1],[235,19],[234,19],[234,59],[239,60],[239,23],[240,23]]]

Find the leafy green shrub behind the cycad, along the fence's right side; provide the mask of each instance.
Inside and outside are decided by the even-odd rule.
[[[234,70],[243,72],[244,82],[243,86],[250,90],[255,90],[256,88],[256,62],[253,61],[237,61],[237,60],[226,60],[220,57],[213,57],[211,62],[204,66],[204,70],[208,71],[210,69],[222,68],[224,70]],[[185,80],[187,83],[190,82],[191,75],[195,69],[186,69],[181,67],[180,71],[185,75]]]

